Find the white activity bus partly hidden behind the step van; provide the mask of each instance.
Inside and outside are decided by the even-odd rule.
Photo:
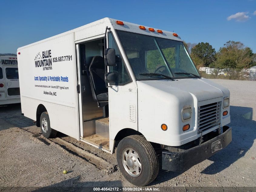
[[[17,56],[0,56],[0,105],[20,103]]]

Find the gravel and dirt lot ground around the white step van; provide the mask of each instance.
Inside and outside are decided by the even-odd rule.
[[[228,147],[182,172],[159,171],[149,187],[254,187],[256,82],[213,79],[231,93]],[[0,107],[0,187],[132,187],[111,155],[58,133],[45,139],[20,105]],[[63,174],[63,170],[68,170]],[[10,189],[10,188],[5,188]],[[1,191],[1,190],[0,190]]]

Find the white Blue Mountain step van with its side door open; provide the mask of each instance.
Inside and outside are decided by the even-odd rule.
[[[46,137],[116,153],[145,186],[232,140],[228,89],[201,78],[178,34],[104,18],[17,51],[21,107]],[[115,148],[117,147],[117,148]]]

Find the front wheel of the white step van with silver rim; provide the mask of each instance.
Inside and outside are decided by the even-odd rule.
[[[143,136],[131,135],[122,139],[117,147],[116,158],[125,179],[135,186],[146,186],[158,175],[157,155]]]

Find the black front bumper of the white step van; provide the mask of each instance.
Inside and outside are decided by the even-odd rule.
[[[175,153],[170,151],[162,152],[162,169],[170,171],[186,170],[204,160],[211,157],[218,151],[212,153],[212,143],[221,140],[222,149],[225,148],[232,141],[232,128],[228,126],[223,127],[223,133],[208,140],[201,145],[192,147],[183,152]]]

